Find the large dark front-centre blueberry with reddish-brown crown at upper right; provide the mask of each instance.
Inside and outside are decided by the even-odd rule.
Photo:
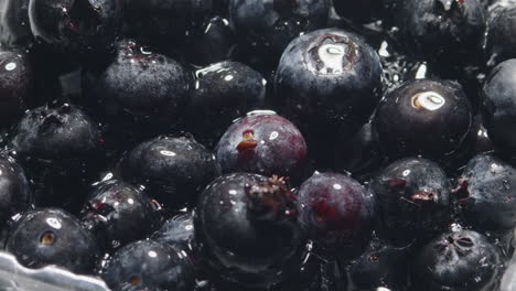
[[[275,287],[301,265],[303,233],[293,195],[279,177],[233,173],[212,182],[195,211],[195,238],[217,277]]]

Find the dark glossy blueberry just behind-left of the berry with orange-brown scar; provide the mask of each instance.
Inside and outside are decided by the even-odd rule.
[[[185,127],[205,144],[215,146],[234,120],[264,104],[266,80],[247,65],[225,61],[195,76]]]

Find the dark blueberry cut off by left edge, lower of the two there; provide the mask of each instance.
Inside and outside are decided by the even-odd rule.
[[[0,155],[0,226],[34,203],[24,170],[11,157]]]

